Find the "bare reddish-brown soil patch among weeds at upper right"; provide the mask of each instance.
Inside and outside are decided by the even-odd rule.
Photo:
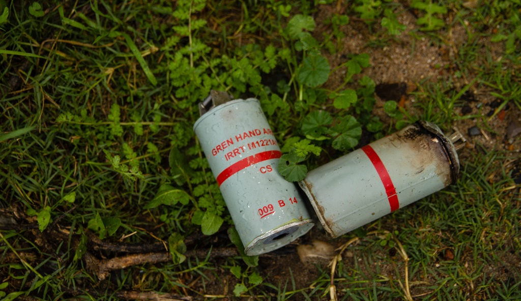
[[[405,9],[405,8],[403,8]],[[321,6],[316,16],[317,24],[323,23],[323,20],[331,18],[334,13],[333,8]],[[451,14],[447,23],[453,22]],[[405,10],[399,15],[399,21],[405,24],[407,29],[400,35],[396,36],[394,40],[389,40],[383,47],[370,46],[378,37],[369,31],[369,27],[363,21],[351,21],[346,26],[342,27],[345,37],[340,41],[341,51],[336,54],[325,54],[329,60],[330,66],[333,68],[343,64],[348,54],[370,54],[369,68],[365,68],[361,74],[357,74],[353,78],[351,87],[356,87],[356,82],[363,76],[368,76],[373,79],[375,83],[407,83],[409,85],[418,85],[426,82],[439,83],[445,82],[447,85],[447,92],[453,90],[460,91],[469,83],[475,80],[477,72],[468,70],[468,73],[459,72],[457,62],[463,59],[460,49],[469,43],[469,34],[472,34],[474,29],[468,27],[468,22],[465,26],[461,23],[454,23],[454,26],[449,32],[439,32],[438,41],[432,37],[428,37],[422,32],[418,31],[416,26],[416,17]],[[327,31],[327,27],[319,27],[319,30]],[[374,25],[374,32],[381,32],[379,24]],[[489,29],[488,31],[492,31]],[[413,36],[417,35],[416,36]],[[487,32],[490,33],[490,32]],[[317,32],[317,38],[322,32]],[[492,61],[498,61],[502,58],[504,47],[502,43],[490,42],[490,37],[476,37],[473,35],[472,39],[477,39],[477,55],[472,57],[473,61],[469,63],[475,69],[487,64],[487,57]],[[468,46],[467,46],[468,47]],[[519,67],[510,66],[512,70]],[[463,71],[463,70],[461,70]],[[346,69],[339,68],[332,73],[328,82],[327,89],[335,89],[343,82]],[[456,75],[461,74],[461,75]],[[416,92],[424,92],[421,87]],[[519,151],[521,149],[521,140],[519,136],[516,139],[507,137],[507,127],[514,120],[520,121],[521,114],[515,107],[508,105],[500,111],[499,114],[493,118],[489,116],[494,112],[494,109],[499,104],[499,100],[491,95],[493,92],[489,87],[474,82],[468,89],[468,92],[461,97],[455,108],[454,115],[481,115],[482,118],[470,118],[455,121],[452,126],[460,130],[465,138],[468,140],[467,147],[474,148],[475,143],[479,143],[488,150],[492,149],[506,149],[508,151]],[[394,99],[399,101],[400,99]],[[377,96],[377,105],[374,114],[379,116],[384,122],[388,117],[383,114],[383,100]],[[414,115],[420,115],[415,108],[415,103],[419,100],[415,95],[408,95],[405,99],[404,106],[407,111]],[[470,112],[463,112],[463,106],[469,106]],[[468,110],[468,107],[466,108]],[[490,120],[489,120],[490,118]],[[484,129],[483,134],[479,136],[469,137],[467,129],[478,126]],[[450,130],[451,129],[445,129]]]

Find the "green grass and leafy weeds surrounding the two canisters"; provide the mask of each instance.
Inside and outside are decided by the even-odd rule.
[[[197,103],[216,89],[257,97],[295,168],[339,157],[360,131],[375,140],[419,119],[499,133],[501,110],[521,109],[521,4],[33,3],[0,0],[0,298],[329,300],[331,284],[338,300],[521,298],[521,165],[503,137],[461,149],[456,184],[333,240],[354,243],[331,280],[331,267],[302,268],[292,247],[227,253],[232,221],[192,130]],[[325,11],[331,20],[319,22]],[[419,23],[402,33],[406,14]],[[348,24],[366,29],[369,57],[400,34],[412,47],[453,47],[437,66],[450,76],[417,82],[414,106],[375,114],[367,57],[340,44]],[[456,47],[448,36],[458,28],[467,36]],[[334,86],[336,70],[345,75]],[[483,105],[460,115],[466,91]],[[500,106],[487,116],[491,98]],[[172,260],[103,279],[93,264],[150,252]]]

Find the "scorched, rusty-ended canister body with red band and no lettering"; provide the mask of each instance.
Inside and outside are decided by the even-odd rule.
[[[326,231],[337,237],[456,181],[456,149],[419,121],[307,174],[299,184]]]

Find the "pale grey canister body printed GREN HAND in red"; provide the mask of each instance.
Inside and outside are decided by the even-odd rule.
[[[280,148],[257,99],[210,109],[194,131],[247,255],[287,245],[313,227],[299,190],[278,173]]]

